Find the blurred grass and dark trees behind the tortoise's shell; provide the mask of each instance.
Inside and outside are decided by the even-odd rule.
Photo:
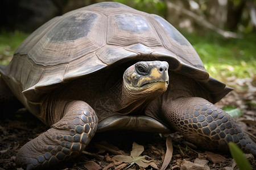
[[[114,0],[167,19],[191,42],[211,76],[224,82],[256,74],[255,0]],[[0,64],[49,19],[100,0],[1,1]]]

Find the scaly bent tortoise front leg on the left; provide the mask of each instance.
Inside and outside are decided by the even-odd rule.
[[[20,148],[16,164],[45,169],[79,155],[96,133],[97,122],[90,105],[84,101],[69,102],[59,122]]]

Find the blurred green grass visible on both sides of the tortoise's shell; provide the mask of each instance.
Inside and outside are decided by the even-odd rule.
[[[205,69],[214,78],[225,82],[226,77],[246,78],[256,75],[256,34],[243,39],[224,39],[214,33],[198,36],[183,35],[201,57]],[[18,45],[28,36],[19,31],[0,33],[0,64],[8,64]]]

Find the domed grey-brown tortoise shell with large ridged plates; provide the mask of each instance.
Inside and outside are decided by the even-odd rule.
[[[121,3],[102,2],[57,16],[36,29],[0,72],[28,108],[60,83],[126,61],[167,61],[195,79],[212,103],[230,91],[209,76],[192,45],[162,17]]]

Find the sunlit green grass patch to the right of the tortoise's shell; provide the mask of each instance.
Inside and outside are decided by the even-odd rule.
[[[246,78],[256,75],[256,34],[243,35],[242,39],[225,39],[214,33],[200,37],[183,35],[201,57],[205,69],[214,78]]]

